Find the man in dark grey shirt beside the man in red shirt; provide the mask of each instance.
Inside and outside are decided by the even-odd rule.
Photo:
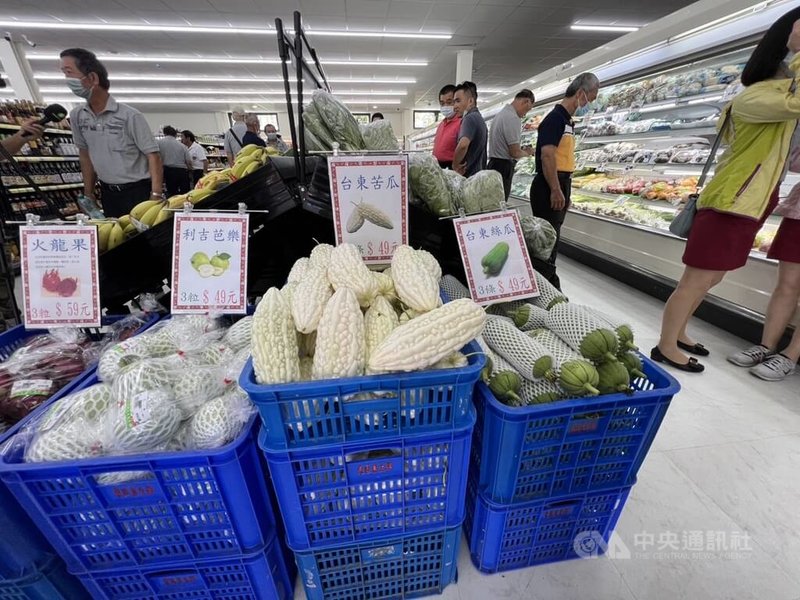
[[[471,81],[456,86],[453,108],[461,115],[461,129],[453,156],[453,170],[470,177],[486,168],[488,130],[478,110],[478,88]]]

